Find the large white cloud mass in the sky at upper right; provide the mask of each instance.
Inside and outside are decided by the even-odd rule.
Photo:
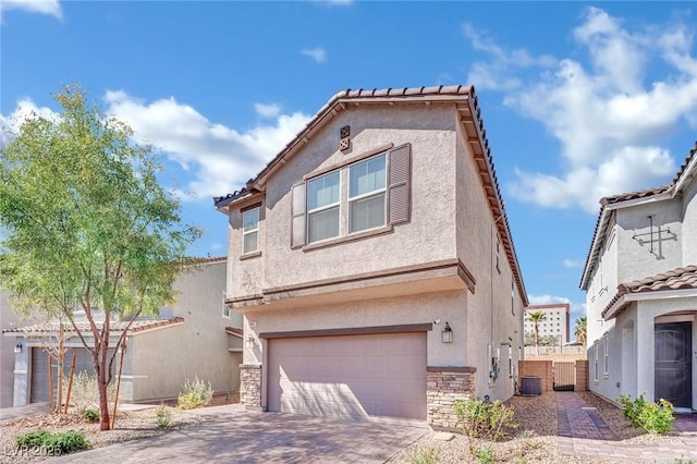
[[[689,27],[628,30],[621,20],[589,8],[573,32],[588,62],[561,59],[553,72],[547,58],[505,50],[473,32],[465,35],[489,56],[473,64],[470,75],[490,76],[489,88],[503,90],[505,105],[539,121],[561,143],[561,162],[551,169],[562,172],[518,169],[508,185],[517,199],[596,212],[602,196],[662,185],[675,173],[674,158],[661,143],[683,122],[697,126]],[[516,63],[536,69],[535,77],[516,74]],[[663,74],[657,77],[656,70]]]

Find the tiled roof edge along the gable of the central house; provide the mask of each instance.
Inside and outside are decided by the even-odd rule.
[[[450,85],[450,86],[430,86],[430,87],[400,87],[400,88],[374,88],[374,89],[347,89],[340,90],[322,106],[319,111],[309,120],[306,126],[257,174],[256,178],[249,179],[247,184],[225,196],[213,197],[215,207],[221,210],[236,199],[244,198],[248,195],[258,193],[266,179],[279,166],[282,166],[286,156],[292,156],[296,150],[302,148],[325,123],[333,118],[340,110],[344,109],[345,103],[350,102],[432,102],[432,101],[451,101],[463,103],[458,107],[461,123],[465,130],[466,143],[473,150],[477,170],[485,187],[489,207],[494,218],[503,218],[501,221],[496,219],[497,228],[502,236],[503,247],[513,269],[515,281],[524,300],[527,304],[527,291],[523,283],[519,262],[513,245],[509,218],[505,215],[503,198],[499,188],[499,181],[493,168],[491,149],[487,131],[481,119],[481,108],[478,98],[475,95],[475,88],[470,85]]]

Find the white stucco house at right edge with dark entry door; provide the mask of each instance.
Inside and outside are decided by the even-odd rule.
[[[670,185],[600,200],[580,288],[590,389],[697,405],[697,144]]]

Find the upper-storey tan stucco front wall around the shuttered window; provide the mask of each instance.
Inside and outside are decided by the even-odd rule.
[[[351,125],[348,152],[339,151],[339,129],[343,125]],[[242,213],[235,208],[230,215],[229,293],[249,295],[264,288],[454,258],[454,106],[433,105],[418,111],[366,107],[334,118],[270,179],[260,223],[261,257],[237,259]],[[339,246],[291,249],[291,186],[308,172],[390,143],[412,144],[412,221],[396,225],[393,233]]]

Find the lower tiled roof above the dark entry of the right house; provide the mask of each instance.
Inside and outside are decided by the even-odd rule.
[[[697,266],[685,266],[632,282],[621,283],[617,285],[617,293],[602,310],[602,317],[608,316],[624,295],[683,289],[697,290]],[[628,306],[628,303],[615,308],[611,316],[621,313],[626,306]]]

